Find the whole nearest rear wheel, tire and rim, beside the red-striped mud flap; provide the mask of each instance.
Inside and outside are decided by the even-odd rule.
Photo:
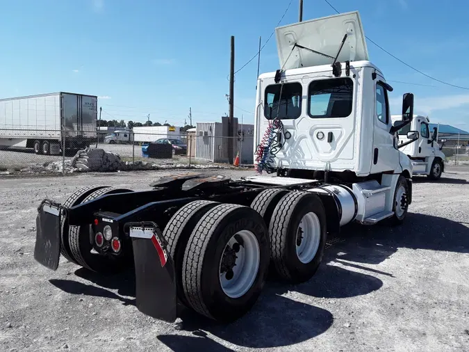
[[[261,215],[242,205],[217,205],[197,223],[184,253],[182,281],[190,306],[224,323],[242,317],[261,294],[269,257],[268,230]],[[234,275],[233,264],[240,268]],[[220,271],[227,266],[231,268],[222,277]]]

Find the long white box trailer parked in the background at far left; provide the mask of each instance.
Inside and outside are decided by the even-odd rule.
[[[0,99],[0,146],[60,154],[96,143],[97,96],[51,93]]]

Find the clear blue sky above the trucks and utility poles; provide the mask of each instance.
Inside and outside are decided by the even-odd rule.
[[[422,72],[469,87],[469,2],[329,0],[359,10],[365,35]],[[0,0],[0,97],[66,91],[98,95],[102,118],[176,126],[229,112],[230,37],[238,70],[268,39],[290,0]],[[297,22],[293,0],[280,25]],[[333,15],[324,0],[304,0],[303,19]],[[469,90],[432,81],[371,42],[370,61],[395,88],[391,113],[414,93],[415,113],[469,130]],[[260,72],[279,69],[275,36]],[[236,74],[235,116],[254,121],[257,59]],[[398,83],[407,82],[407,83]],[[409,84],[413,83],[413,84]]]

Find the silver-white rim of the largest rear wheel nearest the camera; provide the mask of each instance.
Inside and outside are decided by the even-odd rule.
[[[261,249],[249,230],[236,232],[220,259],[220,285],[229,298],[239,298],[252,287],[261,262]]]

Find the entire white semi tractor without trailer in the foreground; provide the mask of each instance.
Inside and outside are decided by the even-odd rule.
[[[392,124],[384,74],[368,61],[359,13],[277,29],[280,65],[258,77],[256,170],[228,179],[186,173],[148,191],[90,186],[38,208],[35,259],[106,275],[135,269],[138,310],[174,321],[188,307],[233,321],[256,302],[268,268],[310,280],[327,237],[352,221],[400,224],[412,164]],[[409,139],[416,132],[409,131]]]

